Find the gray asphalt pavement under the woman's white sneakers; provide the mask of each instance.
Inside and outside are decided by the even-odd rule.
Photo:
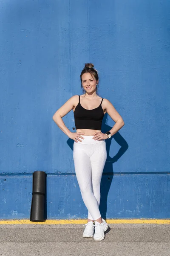
[[[109,224],[105,239],[83,238],[83,224],[0,225],[0,256],[170,256],[170,225]]]

